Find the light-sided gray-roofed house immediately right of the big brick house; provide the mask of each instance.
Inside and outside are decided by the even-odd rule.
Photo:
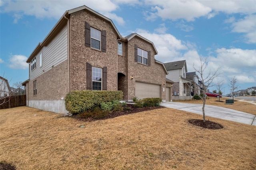
[[[168,72],[166,78],[174,82],[174,84],[172,84],[172,100],[190,100],[192,98],[192,80],[186,78],[186,60],[164,63],[164,66]]]

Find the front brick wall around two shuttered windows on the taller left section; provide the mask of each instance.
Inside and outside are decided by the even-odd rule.
[[[85,21],[100,31],[106,30],[106,53],[85,46]],[[117,34],[112,25],[82,10],[70,15],[70,87],[86,90],[86,63],[103,68],[107,66],[108,90],[118,90]]]

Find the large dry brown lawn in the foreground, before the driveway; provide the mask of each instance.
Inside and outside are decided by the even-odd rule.
[[[17,170],[256,169],[256,126],[211,118],[224,126],[212,130],[188,119],[202,115],[162,108],[82,122],[1,109],[0,161]]]

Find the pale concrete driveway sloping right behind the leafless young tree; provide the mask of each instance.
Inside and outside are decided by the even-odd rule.
[[[163,102],[160,104],[164,107],[169,107],[173,109],[188,111],[191,113],[197,113],[203,115],[202,112],[202,104],[187,104],[187,103],[179,103],[179,102]],[[237,111],[233,109],[228,109],[225,107],[211,106],[205,105],[204,107],[206,119],[207,117],[216,117],[224,120],[235,121],[239,123],[244,123],[248,125],[256,126],[256,115],[252,115],[249,113],[244,113],[242,111]]]

